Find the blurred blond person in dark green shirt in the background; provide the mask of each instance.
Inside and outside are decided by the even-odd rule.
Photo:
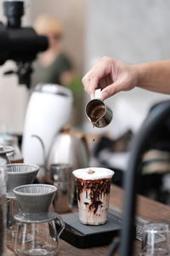
[[[61,84],[71,89],[74,98],[73,124],[81,125],[82,83],[77,76],[72,61],[63,49],[63,30],[59,20],[50,15],[40,15],[34,22],[34,29],[48,37],[48,50],[38,56],[32,86],[38,83]]]

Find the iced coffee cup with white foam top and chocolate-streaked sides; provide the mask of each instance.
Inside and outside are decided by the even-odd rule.
[[[82,224],[106,223],[113,174],[109,169],[96,167],[73,172],[77,182],[79,219]]]

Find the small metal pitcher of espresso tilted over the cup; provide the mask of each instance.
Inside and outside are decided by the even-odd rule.
[[[111,123],[112,111],[100,99],[94,99],[86,105],[86,114],[92,124],[98,128],[105,127]]]

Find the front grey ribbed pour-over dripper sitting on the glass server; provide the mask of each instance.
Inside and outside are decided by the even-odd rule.
[[[15,188],[14,195],[20,203],[23,218],[37,221],[48,219],[48,208],[56,190],[56,187],[48,184],[29,184]]]

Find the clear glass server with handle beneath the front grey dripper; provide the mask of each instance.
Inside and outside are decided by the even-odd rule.
[[[59,236],[65,228],[63,220],[55,212],[49,212],[54,218],[47,218],[42,221],[24,220],[26,216],[18,220],[17,234],[14,251],[20,256],[54,256],[59,251]],[[18,218],[17,218],[18,216]]]

